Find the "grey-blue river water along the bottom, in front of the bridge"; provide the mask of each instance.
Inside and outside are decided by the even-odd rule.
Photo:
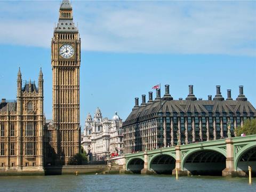
[[[0,191],[256,191],[248,178],[169,175],[53,175],[0,177]]]

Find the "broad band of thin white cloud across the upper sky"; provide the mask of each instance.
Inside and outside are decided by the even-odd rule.
[[[51,2],[49,14],[41,9],[47,2],[23,4],[16,18],[0,17],[6,26],[0,43],[50,47],[59,2]],[[73,8],[83,50],[256,55],[255,2],[73,2]]]

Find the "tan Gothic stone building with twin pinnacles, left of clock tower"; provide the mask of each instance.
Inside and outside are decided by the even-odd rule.
[[[17,100],[0,103],[0,171],[43,171],[43,74],[17,79]]]

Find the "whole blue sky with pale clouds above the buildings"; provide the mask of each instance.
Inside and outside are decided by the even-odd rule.
[[[15,99],[17,73],[44,74],[44,112],[52,118],[51,38],[61,1],[0,1],[0,98]],[[256,1],[71,1],[81,36],[81,126],[97,107],[130,114],[134,98],[170,85],[185,99],[223,97],[238,86],[256,106]]]

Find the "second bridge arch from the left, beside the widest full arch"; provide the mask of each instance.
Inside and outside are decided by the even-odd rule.
[[[149,170],[157,174],[172,174],[175,168],[175,155],[174,154],[158,154],[150,158]]]

